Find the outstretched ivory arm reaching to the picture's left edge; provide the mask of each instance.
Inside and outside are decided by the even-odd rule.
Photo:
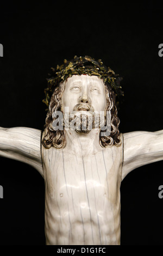
[[[43,176],[41,131],[27,127],[0,127],[0,156],[28,163]]]

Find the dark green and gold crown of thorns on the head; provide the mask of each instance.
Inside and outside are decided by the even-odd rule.
[[[44,91],[45,99],[42,100],[47,106],[49,106],[55,87],[57,87],[61,82],[66,81],[66,79],[72,75],[85,74],[89,76],[98,76],[103,79],[106,86],[111,87],[118,100],[120,100],[123,95],[121,90],[122,87],[120,86],[122,77],[115,74],[115,72],[109,67],[106,67],[101,59],[95,60],[90,56],[74,56],[70,61],[64,59],[64,63],[62,65],[57,65],[56,69],[51,68],[51,70],[52,74],[49,74],[51,77],[47,78],[48,87]]]

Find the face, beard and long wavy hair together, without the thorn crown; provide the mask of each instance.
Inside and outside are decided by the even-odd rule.
[[[59,95],[57,95],[58,92]],[[68,109],[65,112],[66,107]],[[101,111],[104,111],[102,118]],[[77,113],[71,115],[72,112]],[[49,113],[46,118],[46,135],[42,144],[45,148],[52,146],[64,148],[66,139],[63,130],[88,133],[97,128],[96,131],[100,132],[99,143],[102,147],[114,143],[119,145],[121,144],[119,124],[120,120],[117,117],[112,94],[110,90],[106,89],[103,80],[98,76],[73,75],[66,80],[65,84],[60,84],[60,87],[56,88],[52,95]],[[109,132],[111,127],[114,138],[110,133],[106,135],[104,132],[104,136],[102,135],[101,131],[106,130],[108,132],[108,127]],[[53,130],[57,132],[53,132]],[[96,134],[98,133],[96,132]],[[51,141],[49,141],[49,138],[51,138]]]

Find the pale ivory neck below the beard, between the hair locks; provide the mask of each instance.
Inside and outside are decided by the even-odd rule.
[[[93,129],[89,133],[77,133],[76,131],[66,131],[66,149],[71,150],[75,155],[96,154],[102,150],[99,144],[100,129]]]

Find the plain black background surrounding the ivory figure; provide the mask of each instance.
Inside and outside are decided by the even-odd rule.
[[[123,77],[120,132],[163,129],[161,2],[1,3],[0,126],[43,129],[52,66],[74,55],[101,58]],[[0,158],[0,245],[45,245],[44,181],[27,164]],[[121,185],[121,245],[163,245],[162,161]]]

